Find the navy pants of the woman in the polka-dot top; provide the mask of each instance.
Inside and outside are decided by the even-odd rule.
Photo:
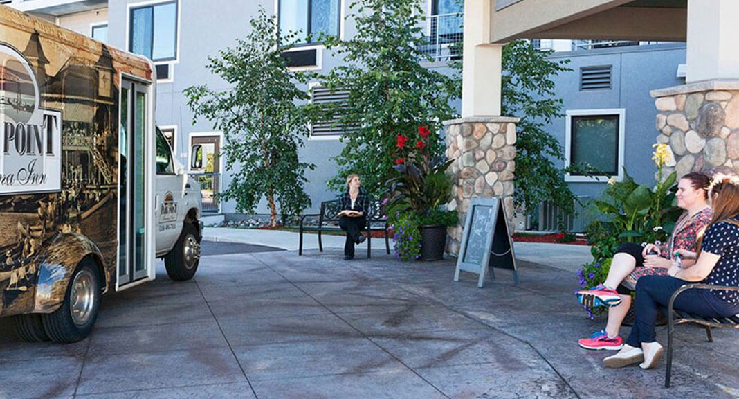
[[[665,275],[645,275],[636,281],[634,299],[636,320],[626,343],[638,348],[641,343],[655,341],[657,306],[667,306],[672,294],[683,284],[689,282]],[[739,306],[722,301],[705,289],[689,289],[682,292],[675,298],[675,309],[707,318],[725,318],[739,313]]]

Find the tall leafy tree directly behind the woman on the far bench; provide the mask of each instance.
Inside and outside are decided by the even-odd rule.
[[[410,143],[420,139],[418,127],[441,130],[441,122],[454,117],[449,105],[459,96],[454,78],[423,67],[423,10],[418,0],[362,0],[351,4],[357,34],[347,41],[324,38],[327,48],[344,57],[344,63],[322,76],[322,84],[348,90],[343,104],[329,104],[326,120],[336,118],[349,133],[335,158],[338,166],[330,187],[343,184],[343,176],[358,173],[362,185],[377,195],[395,177],[399,135]],[[443,141],[432,135],[432,154],[443,152]]]

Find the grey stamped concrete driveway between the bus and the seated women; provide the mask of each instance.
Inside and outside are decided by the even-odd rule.
[[[735,398],[739,333],[678,327],[673,387],[604,369],[574,274],[519,262],[477,289],[453,261],[208,249],[193,281],[103,298],[92,336],[24,343],[0,319],[0,398]],[[379,246],[378,246],[379,247]],[[240,248],[240,249],[239,249]],[[231,252],[231,253],[228,253]],[[207,255],[207,254],[222,255]],[[624,331],[627,332],[627,331]],[[658,339],[664,342],[664,329]]]

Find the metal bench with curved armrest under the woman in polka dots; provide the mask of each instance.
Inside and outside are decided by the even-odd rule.
[[[667,372],[664,376],[664,387],[670,388],[670,375],[672,373],[672,335],[674,333],[675,326],[683,323],[692,323],[699,326],[704,326],[706,329],[706,335],[709,342],[713,342],[713,336],[711,335],[711,329],[739,329],[739,315],[730,316],[728,318],[704,318],[698,315],[691,315],[688,312],[681,310],[675,310],[673,304],[675,304],[675,298],[681,294],[681,292],[687,289],[718,289],[722,291],[739,291],[739,286],[712,286],[709,284],[685,284],[681,286],[670,298],[670,304],[667,307]]]

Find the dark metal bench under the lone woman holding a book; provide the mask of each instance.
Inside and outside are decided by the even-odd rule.
[[[319,233],[319,251],[323,252],[323,242],[321,241],[321,232],[340,232],[338,227],[339,203],[337,200],[321,202],[321,213],[302,215],[300,218],[300,244],[298,255],[303,255],[303,232]],[[318,218],[316,225],[309,225],[307,221]],[[362,229],[367,231],[367,258],[372,257],[372,234],[373,231],[385,232],[385,249],[390,254],[390,241],[387,233],[387,217],[382,212],[382,206],[379,201],[369,201],[369,212],[367,212],[367,227]]]

